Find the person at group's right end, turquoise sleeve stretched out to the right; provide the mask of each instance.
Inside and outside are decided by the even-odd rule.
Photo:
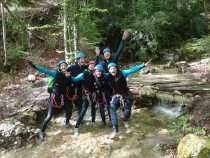
[[[151,61],[151,60],[150,60]],[[150,61],[146,64],[140,64],[137,66],[133,66],[129,69],[119,70],[116,63],[109,63],[109,74],[107,76],[110,87],[112,88],[112,97],[110,101],[110,112],[111,112],[111,122],[113,127],[113,133],[111,137],[115,137],[118,134],[118,117],[117,117],[117,109],[120,105],[123,106],[123,114],[124,114],[124,126],[128,128],[128,120],[131,115],[131,107],[133,104],[133,96],[129,92],[129,88],[127,85],[126,78],[138,72],[145,66],[147,66]]]

